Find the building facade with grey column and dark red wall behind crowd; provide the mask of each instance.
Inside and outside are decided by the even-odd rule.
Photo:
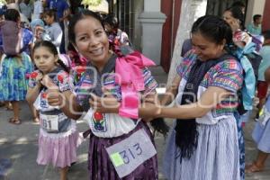
[[[193,0],[196,1],[196,0]],[[220,15],[236,0],[208,0],[206,14]],[[182,0],[108,0],[121,29],[130,41],[157,65],[169,71]],[[263,14],[263,28],[270,29],[270,0],[243,0],[247,4],[246,24],[254,14]]]

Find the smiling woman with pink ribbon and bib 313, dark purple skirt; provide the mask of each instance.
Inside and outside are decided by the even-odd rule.
[[[75,101],[70,105],[87,112],[89,179],[157,179],[154,139],[138,118],[152,116],[148,109],[138,110],[138,94],[145,100],[155,93],[157,83],[146,68],[152,61],[138,52],[127,57],[112,53],[100,16],[88,10],[73,16],[68,32],[69,40],[88,61],[76,87],[80,105]],[[117,100],[99,97],[105,95],[103,89]],[[49,102],[59,101],[49,98]],[[68,114],[76,117],[75,111]]]

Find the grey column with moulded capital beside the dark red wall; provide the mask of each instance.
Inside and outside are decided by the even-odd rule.
[[[142,53],[157,65],[160,64],[162,26],[166,15],[160,12],[160,0],[145,0],[144,11],[139,15],[142,26]]]

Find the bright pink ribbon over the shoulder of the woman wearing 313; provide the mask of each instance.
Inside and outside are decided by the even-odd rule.
[[[145,89],[141,69],[154,66],[155,63],[134,51],[125,57],[118,57],[115,62],[115,83],[121,85],[121,106],[119,114],[138,119],[139,91]]]

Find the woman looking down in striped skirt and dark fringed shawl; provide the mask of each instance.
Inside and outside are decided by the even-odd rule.
[[[175,118],[167,139],[164,172],[171,180],[239,180],[237,92],[242,67],[229,54],[229,24],[216,16],[193,23],[193,49],[177,67],[175,107],[157,107],[159,117]],[[167,94],[177,92],[170,87]],[[168,98],[162,104],[169,103]],[[226,163],[226,162],[229,162]]]

